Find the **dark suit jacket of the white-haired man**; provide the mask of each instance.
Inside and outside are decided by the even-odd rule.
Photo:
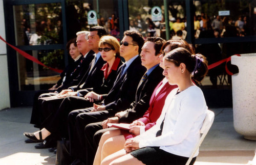
[[[94,51],[90,50],[86,56],[86,58],[79,63],[78,67],[76,67],[75,71],[72,73],[70,77],[70,81],[67,82],[64,86],[60,87],[57,91],[61,92],[63,89],[68,89],[71,86],[77,85],[80,80],[82,79],[83,75],[86,74],[87,70],[89,69],[90,63],[94,58]]]

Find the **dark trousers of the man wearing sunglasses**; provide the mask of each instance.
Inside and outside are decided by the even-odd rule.
[[[113,117],[115,112],[98,111],[91,112],[93,107],[86,109],[77,109],[69,114],[69,137],[70,137],[70,154],[73,158],[80,158],[86,162],[87,139],[84,136],[84,128],[90,123],[101,122]],[[102,129],[98,127],[97,129]],[[95,148],[97,150],[97,148]],[[96,152],[96,151],[95,151]],[[94,153],[95,155],[95,153]],[[94,159],[94,156],[92,160]]]

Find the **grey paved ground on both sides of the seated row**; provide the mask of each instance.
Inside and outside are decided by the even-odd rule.
[[[200,147],[195,165],[247,164],[255,155],[256,141],[245,140],[234,130],[232,108],[211,110],[215,112],[215,121]],[[26,137],[23,132],[37,130],[29,124],[30,116],[31,107],[0,111],[1,165],[55,164],[56,155],[48,149],[35,149],[35,144],[24,143]]]

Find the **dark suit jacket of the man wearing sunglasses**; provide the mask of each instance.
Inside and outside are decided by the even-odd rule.
[[[122,67],[118,70],[118,79],[114,87],[102,101],[106,105],[106,110],[116,113],[129,108],[135,100],[137,86],[146,68],[141,65],[141,59],[138,56],[127,68],[125,74],[120,76]]]

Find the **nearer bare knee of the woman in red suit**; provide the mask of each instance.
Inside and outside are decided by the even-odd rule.
[[[121,149],[123,149],[123,145],[125,143],[125,138],[123,135],[110,137],[102,146],[101,150],[101,161]]]

